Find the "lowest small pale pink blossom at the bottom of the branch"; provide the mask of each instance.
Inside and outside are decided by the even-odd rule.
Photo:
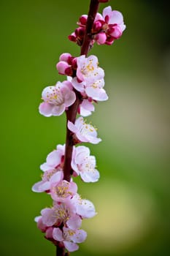
[[[87,233],[85,230],[71,230],[68,227],[63,227],[63,231],[59,227],[53,229],[53,238],[56,241],[62,241],[69,252],[79,249],[76,243],[82,243],[86,237]]]

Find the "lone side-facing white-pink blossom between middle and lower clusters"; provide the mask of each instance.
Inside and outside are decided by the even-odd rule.
[[[89,142],[97,144],[101,141],[101,138],[97,138],[96,129],[91,124],[86,124],[82,116],[77,118],[75,124],[68,121],[68,128],[71,132],[74,132],[74,139],[78,142]]]

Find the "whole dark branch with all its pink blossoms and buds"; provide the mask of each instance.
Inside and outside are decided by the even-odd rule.
[[[91,0],[90,4],[93,23],[88,50],[94,42],[111,45],[125,29],[120,12],[112,11],[111,7],[105,8],[103,15],[93,11],[99,2],[106,1]],[[69,39],[83,46],[84,38],[89,37],[86,31],[88,16],[82,15],[78,24],[80,27]],[[32,187],[34,192],[45,192],[53,200],[53,206],[42,209],[35,221],[39,230],[45,233],[45,238],[57,246],[58,256],[68,255],[68,252],[79,248],[78,244],[87,236],[81,229],[82,219],[96,215],[93,203],[82,199],[74,182],[77,176],[84,182],[98,181],[100,175],[96,169],[96,158],[90,155],[88,147],[79,144],[101,141],[96,128],[87,124],[83,117],[94,111],[96,102],[108,99],[104,90],[104,69],[98,67],[96,56],[87,56],[87,53],[81,50],[77,57],[70,53],[61,54],[56,68],[60,75],[66,75],[66,80],[47,86],[42,91],[42,103],[39,105],[39,113],[43,116],[66,113],[66,143],[59,144],[47,155],[46,162],[40,165],[42,179]]]

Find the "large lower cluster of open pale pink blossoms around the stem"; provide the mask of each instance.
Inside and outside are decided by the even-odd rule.
[[[82,219],[94,217],[96,210],[90,200],[80,197],[74,181],[63,179],[64,151],[65,145],[58,145],[47,155],[46,162],[40,166],[44,172],[42,181],[34,184],[32,190],[47,192],[53,199],[53,207],[42,209],[41,216],[36,217],[37,227],[53,244],[73,252],[79,248],[77,243],[84,241],[87,236],[85,230],[80,229]],[[97,181],[99,173],[95,169],[96,161],[90,156],[88,148],[74,148],[74,156],[74,176],[80,175],[85,182]]]

